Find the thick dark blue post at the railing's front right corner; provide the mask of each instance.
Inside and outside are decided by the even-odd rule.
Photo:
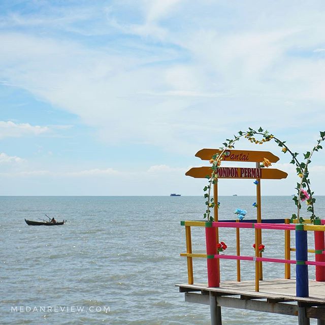
[[[296,295],[297,297],[308,297],[308,244],[307,232],[303,224],[296,225]]]

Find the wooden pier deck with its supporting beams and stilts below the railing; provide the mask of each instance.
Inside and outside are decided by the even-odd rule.
[[[316,318],[318,325],[325,325],[325,282],[309,280],[309,297],[296,296],[295,279],[263,280],[259,292],[255,281],[224,281],[220,287],[207,284],[176,284],[185,301],[210,305],[211,323],[221,324],[221,307],[263,311],[291,316],[305,316],[300,321],[308,324]],[[214,308],[213,308],[214,306]],[[303,311],[303,312],[302,312]],[[219,315],[220,314],[220,315]]]

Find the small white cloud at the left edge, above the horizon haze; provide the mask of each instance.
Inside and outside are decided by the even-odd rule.
[[[8,137],[38,136],[49,131],[47,126],[30,125],[29,123],[14,123],[0,121],[0,139]]]

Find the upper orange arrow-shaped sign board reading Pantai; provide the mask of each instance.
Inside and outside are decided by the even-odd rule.
[[[201,149],[196,153],[196,157],[202,160],[210,160],[215,153],[221,153],[219,149]],[[264,158],[270,160],[271,163],[276,163],[279,157],[269,151],[249,151],[249,150],[226,150],[222,160],[224,161],[242,161],[261,163]]]

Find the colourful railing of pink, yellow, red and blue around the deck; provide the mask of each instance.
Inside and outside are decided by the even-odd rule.
[[[220,259],[233,259],[237,261],[237,281],[241,280],[240,261],[252,261],[255,263],[255,291],[259,291],[259,281],[263,279],[262,263],[273,262],[285,265],[284,278],[290,278],[290,265],[296,264],[296,294],[298,297],[308,297],[308,265],[316,266],[316,281],[325,281],[325,220],[315,220],[314,224],[289,223],[290,219],[266,219],[262,222],[255,220],[225,220],[225,221],[181,221],[185,226],[186,253],[181,256],[187,257],[188,283],[193,284],[192,258],[207,258],[208,286],[219,287],[220,285]],[[206,254],[192,252],[191,227],[204,227],[206,234]],[[217,251],[218,229],[236,229],[236,255],[220,255]],[[255,256],[240,255],[240,229],[255,230]],[[262,229],[284,231],[284,258],[263,257],[258,251],[261,243]],[[295,231],[296,247],[290,247],[290,232]],[[315,248],[308,249],[307,232],[314,232]],[[290,258],[290,252],[296,252],[296,260]],[[308,252],[315,253],[315,261],[308,261]]]

